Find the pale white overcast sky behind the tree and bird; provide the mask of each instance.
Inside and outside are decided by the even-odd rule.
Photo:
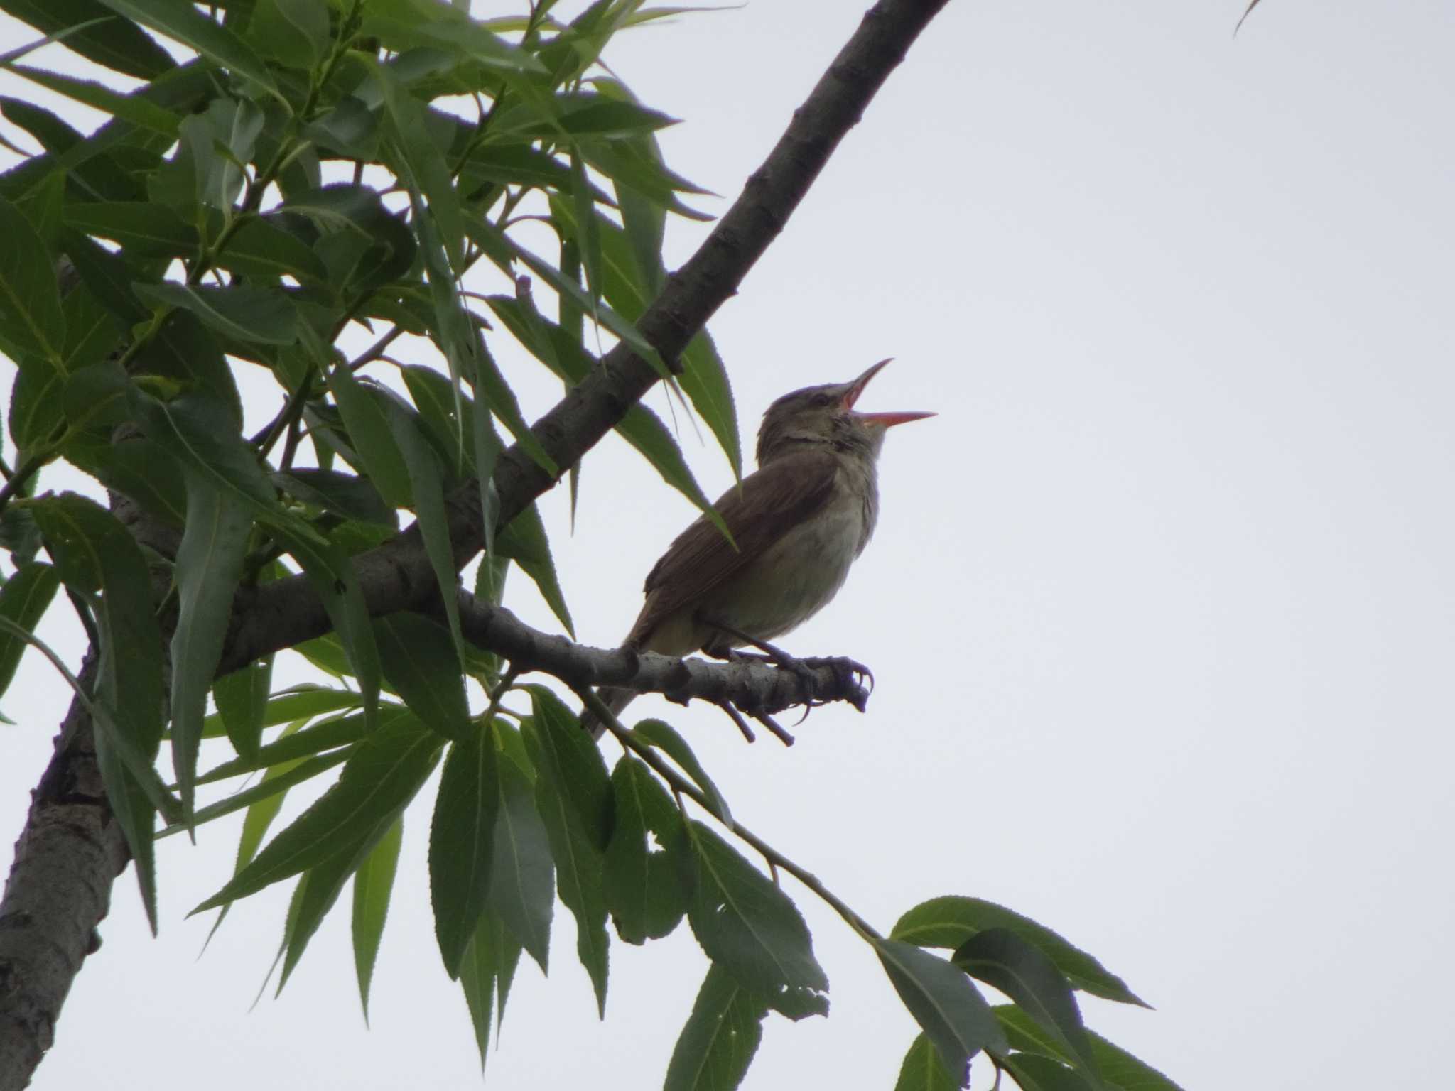
[[[777,394],[882,356],[866,407],[940,413],[890,435],[874,543],[786,639],[870,663],[869,714],[819,710],[786,751],[640,708],[879,927],[976,895],[1097,954],[1157,1011],[1087,999],[1090,1026],[1189,1091],[1438,1087],[1455,6],[1266,0],[1234,38],[1241,6],[950,3],[711,326],[748,444]],[[860,12],[752,0],[608,57],[685,119],[669,163],[730,199]],[[703,233],[675,223],[671,262]],[[556,383],[506,359],[544,410]],[[682,442],[725,487],[720,454]],[[586,461],[575,537],[563,496],[544,508],[582,639],[614,643],[688,506],[613,439]],[[514,605],[551,626],[522,586]],[[68,626],[47,634],[79,658]],[[0,851],[65,697],[28,658],[0,703],[19,722],[0,729]],[[38,1091],[474,1087],[426,828],[416,807],[372,1030],[346,908],[252,1012],[287,884],[198,959],[210,921],[185,914],[230,871],[223,822],[198,848],[163,842],[160,940],[131,874],[116,884]],[[914,1026],[863,944],[792,893],[834,1008],[771,1018],[745,1087],[888,1090]],[[521,966],[489,1085],[661,1085],[706,969],[687,928],[613,948],[605,1023],[559,909],[554,938],[549,980]]]

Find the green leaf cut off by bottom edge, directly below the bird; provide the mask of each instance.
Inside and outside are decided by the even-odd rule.
[[[768,1005],[713,963],[693,1001],[693,1014],[672,1047],[665,1091],[732,1091],[748,1074],[762,1040]]]

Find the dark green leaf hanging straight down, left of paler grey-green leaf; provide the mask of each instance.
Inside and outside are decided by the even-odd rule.
[[[451,745],[429,823],[429,900],[439,954],[451,978],[460,976],[490,889],[501,804],[498,761],[487,732],[473,730]]]

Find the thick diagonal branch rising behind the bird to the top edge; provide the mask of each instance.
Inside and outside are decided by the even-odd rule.
[[[688,262],[668,278],[662,294],[637,321],[642,336],[663,358],[681,353],[707,319],[738,291],[840,141],[944,3],[880,0],[869,10],[813,92],[793,112],[789,128],[748,177],[732,208]],[[658,378],[646,361],[617,345],[531,431],[556,465],[573,465]],[[493,480],[501,497],[501,528],[556,483],[519,444],[501,455]],[[479,486],[471,481],[451,493],[447,515],[455,567],[464,567],[485,546]],[[355,557],[354,570],[374,617],[418,608],[436,586],[418,525]],[[259,588],[242,607],[234,614],[220,674],[311,640],[332,627],[306,576]]]

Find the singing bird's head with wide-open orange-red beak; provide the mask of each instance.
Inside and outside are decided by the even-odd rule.
[[[860,413],[854,409],[869,380],[888,364],[882,359],[848,383],[826,383],[784,394],[762,415],[758,429],[758,465],[778,455],[824,445],[867,458],[879,455],[885,431],[934,413]]]

